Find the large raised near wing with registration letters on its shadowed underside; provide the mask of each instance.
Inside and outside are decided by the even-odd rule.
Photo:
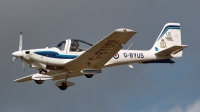
[[[117,29],[106,36],[76,59],[66,62],[65,70],[81,70],[84,68],[102,68],[120,49],[121,44],[135,35],[130,29]]]

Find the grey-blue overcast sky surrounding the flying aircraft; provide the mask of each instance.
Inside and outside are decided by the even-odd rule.
[[[1,0],[1,112],[200,112],[199,0]],[[133,64],[103,69],[61,91],[55,82],[15,83],[38,72],[11,63],[23,32],[23,49],[50,47],[75,38],[96,43],[118,28],[138,33],[124,49],[150,49],[164,24],[180,22],[190,45],[170,64]]]

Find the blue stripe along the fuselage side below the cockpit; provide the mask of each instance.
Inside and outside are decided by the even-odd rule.
[[[58,59],[74,59],[77,57],[77,55],[59,54],[55,51],[36,51],[34,53],[45,57],[58,58]]]

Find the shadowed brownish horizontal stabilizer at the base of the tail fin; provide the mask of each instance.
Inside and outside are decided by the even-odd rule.
[[[174,45],[172,47],[169,47],[167,49],[164,49],[160,52],[155,53],[155,55],[163,55],[163,56],[168,56],[168,55],[175,55],[188,47],[188,45]]]

